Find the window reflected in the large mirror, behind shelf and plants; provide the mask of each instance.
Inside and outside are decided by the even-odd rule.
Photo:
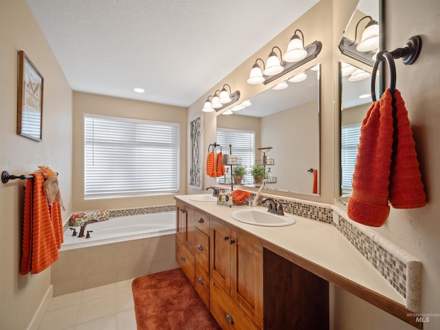
[[[232,155],[237,155],[239,163],[250,173],[254,166],[255,133],[251,131],[236,131],[234,129],[217,129],[217,143],[221,145],[223,154],[229,153],[232,144]],[[218,152],[219,150],[217,150]],[[254,178],[250,174],[243,177],[243,184],[253,184]]]

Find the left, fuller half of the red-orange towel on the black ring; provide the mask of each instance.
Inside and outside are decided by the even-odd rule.
[[[386,89],[373,102],[362,121],[358,157],[353,174],[353,194],[347,214],[350,219],[380,227],[388,218],[388,184],[393,151],[393,97]]]

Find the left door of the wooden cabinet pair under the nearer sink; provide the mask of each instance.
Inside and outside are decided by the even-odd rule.
[[[230,228],[223,221],[210,219],[210,275],[230,294]]]

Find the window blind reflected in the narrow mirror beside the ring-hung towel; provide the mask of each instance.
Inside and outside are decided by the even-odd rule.
[[[342,126],[341,128],[341,188],[342,195],[351,195],[353,173],[360,138],[360,124]]]

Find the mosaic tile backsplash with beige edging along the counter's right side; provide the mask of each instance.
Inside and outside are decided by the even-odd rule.
[[[365,225],[355,223],[344,210],[327,204],[278,198],[274,195],[261,196],[259,202],[265,197],[271,197],[276,203],[286,203],[283,209],[287,213],[333,223],[351,245],[405,298],[406,308],[411,311],[420,310],[421,262],[415,257],[386,241]]]

